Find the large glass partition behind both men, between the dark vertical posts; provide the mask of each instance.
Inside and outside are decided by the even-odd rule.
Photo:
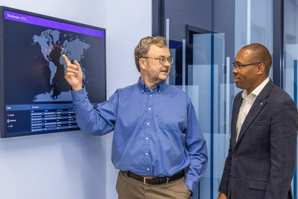
[[[272,53],[272,0],[164,0],[162,24],[175,58],[168,83],[189,95],[207,141],[208,167],[191,199],[217,199],[232,104],[241,91],[231,62],[254,42]]]

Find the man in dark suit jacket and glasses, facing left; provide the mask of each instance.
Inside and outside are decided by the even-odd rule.
[[[218,199],[293,199],[298,111],[269,79],[272,59],[261,44],[236,55],[231,138]]]

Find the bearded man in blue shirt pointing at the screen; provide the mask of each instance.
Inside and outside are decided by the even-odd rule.
[[[118,89],[95,110],[79,64],[63,57],[79,127],[93,135],[114,130],[119,199],[188,199],[206,170],[207,148],[189,97],[165,83],[173,62],[165,38],[141,39],[135,48],[138,83]]]

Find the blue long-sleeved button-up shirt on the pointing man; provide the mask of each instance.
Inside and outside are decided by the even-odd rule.
[[[85,89],[73,92],[78,126],[93,135],[114,130],[112,162],[116,169],[165,177],[188,168],[185,185],[194,192],[208,162],[205,138],[189,97],[158,84],[151,91],[140,79],[118,89],[95,110]]]

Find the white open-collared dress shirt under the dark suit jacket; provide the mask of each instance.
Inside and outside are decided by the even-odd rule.
[[[258,95],[261,93],[261,91],[264,89],[266,84],[269,82],[269,77],[266,78],[255,90],[253,90],[249,95],[247,95],[247,91],[244,90],[242,92],[242,102],[241,106],[239,108],[238,118],[237,118],[237,124],[236,124],[236,142],[242,127],[242,124],[244,122],[244,119],[246,115],[248,114],[253,102],[256,100]]]

